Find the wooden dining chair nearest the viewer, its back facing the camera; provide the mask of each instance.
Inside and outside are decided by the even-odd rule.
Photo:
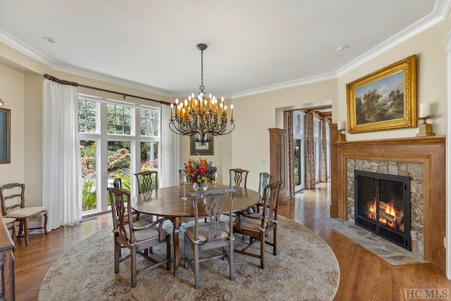
[[[206,192],[192,193],[192,204],[194,206],[194,226],[187,227],[185,231],[185,269],[191,268],[194,273],[194,287],[199,288],[199,263],[211,259],[223,259],[227,257],[230,280],[235,280],[235,255],[233,236],[233,214],[228,216],[228,223],[220,221],[224,211],[231,212],[233,198],[236,189],[211,189]],[[230,207],[224,208],[223,198],[230,195]],[[208,222],[199,221],[198,202],[204,202],[205,214]],[[204,250],[221,249],[221,254],[213,254],[202,257],[200,252]],[[192,250],[193,259],[190,259],[189,250]]]

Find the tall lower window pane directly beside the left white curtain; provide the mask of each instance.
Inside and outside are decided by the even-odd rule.
[[[96,142],[90,140],[80,140],[82,211],[97,209],[96,154]]]

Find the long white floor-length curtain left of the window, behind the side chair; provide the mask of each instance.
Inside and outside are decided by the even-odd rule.
[[[42,205],[47,230],[82,216],[78,90],[44,79]]]

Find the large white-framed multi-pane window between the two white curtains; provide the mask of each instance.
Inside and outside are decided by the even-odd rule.
[[[82,211],[106,211],[115,178],[137,194],[134,174],[159,167],[159,109],[142,109],[80,95],[78,128],[82,158]]]

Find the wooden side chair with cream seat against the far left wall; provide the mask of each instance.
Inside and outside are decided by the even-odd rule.
[[[11,217],[19,222],[18,238],[25,237],[28,245],[28,231],[44,229],[47,235],[47,209],[42,206],[25,207],[25,184],[9,183],[0,188],[1,215]],[[30,219],[44,217],[44,227],[30,228]]]

